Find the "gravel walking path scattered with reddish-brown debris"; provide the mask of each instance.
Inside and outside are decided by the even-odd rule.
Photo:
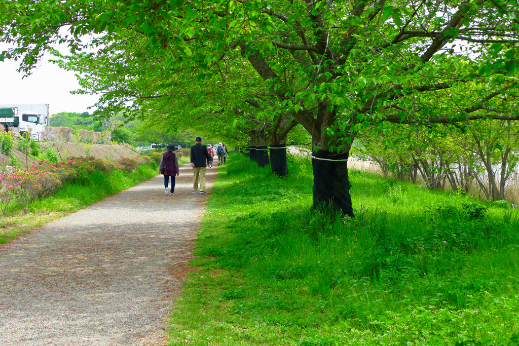
[[[208,169],[208,191],[216,169]],[[203,195],[183,165],[0,247],[0,345],[162,345]]]

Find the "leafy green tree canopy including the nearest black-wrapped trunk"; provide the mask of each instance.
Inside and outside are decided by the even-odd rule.
[[[347,160],[363,132],[392,141],[391,124],[519,120],[513,0],[3,6],[0,39],[13,46],[0,60],[22,58],[29,73],[56,41],[67,43],[72,55],[56,53],[60,65],[78,72],[78,92],[102,94],[96,116],[210,129],[260,149],[282,150],[289,133],[305,132],[313,205],[350,216]]]

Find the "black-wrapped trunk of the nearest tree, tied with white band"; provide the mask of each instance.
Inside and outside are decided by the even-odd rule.
[[[312,153],[313,209],[331,204],[343,215],[353,215],[348,179],[348,153],[318,150]]]

